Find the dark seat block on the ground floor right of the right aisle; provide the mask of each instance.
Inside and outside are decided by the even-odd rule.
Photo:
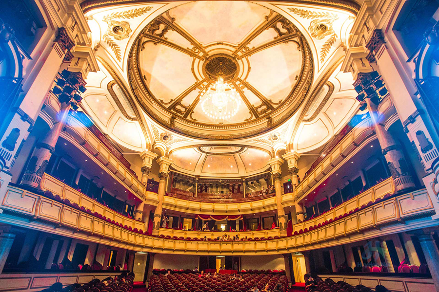
[[[305,274],[305,283],[308,282],[309,277],[309,274]],[[306,292],[374,292],[374,290],[364,285],[352,286],[344,281],[338,281],[336,283],[331,278],[327,278],[323,281],[318,276],[314,278],[314,284],[308,285],[305,287]],[[388,291],[384,286],[377,285],[377,287],[375,287],[375,292],[390,291]]]

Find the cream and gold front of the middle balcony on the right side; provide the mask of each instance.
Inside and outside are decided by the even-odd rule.
[[[317,226],[322,224],[325,221],[334,220],[339,216],[343,216],[351,211],[354,211],[357,208],[360,208],[362,205],[366,205],[368,203],[374,202],[376,200],[382,199],[385,195],[390,194],[393,195],[395,192],[395,183],[392,177],[387,178],[386,180],[375,184],[369,189],[359,193],[359,195],[355,196],[348,201],[343,202],[341,205],[317,216],[316,218],[306,220],[301,223],[297,223],[293,225],[293,232],[305,230],[305,228],[309,229],[310,227]],[[291,198],[291,195],[288,194]],[[282,197],[283,203],[284,197]],[[286,198],[285,198],[286,199]]]

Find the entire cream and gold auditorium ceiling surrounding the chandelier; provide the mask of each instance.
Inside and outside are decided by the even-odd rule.
[[[359,108],[351,73],[340,72],[355,5],[92,2],[99,1],[82,4],[100,71],[88,74],[81,106],[123,149],[209,156],[217,150],[205,147],[225,144],[227,153],[304,153],[327,143]],[[223,124],[199,103],[218,61],[241,99]],[[240,152],[230,153],[239,161]]]

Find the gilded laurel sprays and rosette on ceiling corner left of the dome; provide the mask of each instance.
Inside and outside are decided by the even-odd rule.
[[[126,11],[113,12],[113,13],[110,13],[109,15],[106,15],[102,18],[102,20],[108,24],[108,30],[103,35],[103,40],[110,47],[110,49],[113,51],[113,54],[115,55],[116,59],[119,62],[122,60],[120,46],[112,38],[112,37],[115,37],[113,34],[113,26],[115,25],[116,21],[112,22],[111,20],[115,19],[115,18],[122,18],[122,19],[136,18],[136,17],[139,17],[139,16],[145,14],[146,12],[150,11],[151,9],[152,9],[151,6],[142,7],[142,8],[134,8],[134,9],[126,10]],[[124,21],[122,21],[122,22],[124,22]],[[124,22],[124,23],[126,23],[126,22]],[[128,28],[129,28],[129,25],[128,25]],[[131,30],[129,30],[129,32],[131,32]]]

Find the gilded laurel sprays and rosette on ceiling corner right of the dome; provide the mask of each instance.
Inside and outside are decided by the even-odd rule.
[[[337,40],[337,34],[334,32],[332,24],[335,20],[339,19],[339,17],[337,16],[337,14],[330,12],[316,12],[299,8],[288,8],[288,10],[301,18],[315,19],[311,22],[311,25],[308,28],[308,30],[311,32],[312,37],[316,39],[322,39],[330,35],[329,39],[325,41],[320,49],[320,62],[323,63],[329,51],[331,50],[332,45]]]

